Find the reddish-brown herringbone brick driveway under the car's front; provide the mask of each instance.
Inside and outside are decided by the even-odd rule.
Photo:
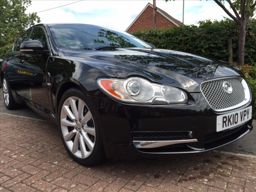
[[[0,119],[1,192],[256,192],[256,158],[204,153],[81,166],[66,153],[54,124]]]

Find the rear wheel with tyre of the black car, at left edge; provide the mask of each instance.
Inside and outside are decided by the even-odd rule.
[[[11,87],[9,86],[9,83],[5,75],[2,78],[2,91],[4,96],[5,107],[8,110],[20,108],[20,104],[16,103],[14,100],[14,97],[11,92]]]

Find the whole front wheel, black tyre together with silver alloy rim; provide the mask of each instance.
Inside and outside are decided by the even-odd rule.
[[[91,166],[106,158],[95,113],[79,87],[72,87],[63,94],[58,122],[65,149],[76,162]]]

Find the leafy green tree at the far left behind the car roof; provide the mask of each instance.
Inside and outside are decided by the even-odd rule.
[[[25,14],[31,0],[0,1],[0,47],[13,43],[28,27],[40,22],[37,13]]]

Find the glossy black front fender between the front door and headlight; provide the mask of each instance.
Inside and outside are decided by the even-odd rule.
[[[61,58],[50,56],[46,66],[46,82],[51,90],[48,91],[49,100],[53,101],[53,111],[58,116],[58,104],[66,90],[71,87],[80,87],[86,95],[104,97],[103,93],[96,84],[96,79],[100,77],[114,77],[97,66],[92,66],[86,61],[81,62],[71,58]]]

